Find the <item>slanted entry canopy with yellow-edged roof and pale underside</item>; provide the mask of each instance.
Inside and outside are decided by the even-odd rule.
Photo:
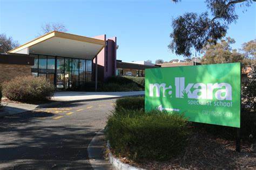
[[[105,46],[104,40],[52,31],[9,53],[44,54],[92,60]]]

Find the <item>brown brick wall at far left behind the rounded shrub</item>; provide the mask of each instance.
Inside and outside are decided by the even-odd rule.
[[[9,81],[17,76],[31,75],[31,66],[28,65],[10,65],[0,63],[0,84]]]

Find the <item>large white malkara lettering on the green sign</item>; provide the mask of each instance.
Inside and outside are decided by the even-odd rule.
[[[149,84],[149,96],[154,96],[154,89],[156,89],[156,97],[160,97],[160,89],[163,89],[163,97],[165,97],[165,91],[168,90],[168,94],[172,94],[172,86],[166,87],[166,83],[150,83]],[[196,98],[196,99],[213,99],[213,92],[215,90],[215,98],[217,100],[229,100],[232,101],[232,87],[229,83],[188,83],[185,87],[185,77],[175,77],[175,92],[176,98]],[[191,91],[191,88],[194,90]]]

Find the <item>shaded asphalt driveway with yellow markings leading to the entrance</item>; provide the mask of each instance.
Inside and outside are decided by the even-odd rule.
[[[0,119],[0,169],[92,169],[87,146],[115,100],[58,105]]]

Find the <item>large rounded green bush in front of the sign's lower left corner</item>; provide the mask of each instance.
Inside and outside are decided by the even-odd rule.
[[[189,134],[187,121],[178,114],[126,110],[107,121],[106,138],[118,156],[134,161],[168,160],[181,154]]]

